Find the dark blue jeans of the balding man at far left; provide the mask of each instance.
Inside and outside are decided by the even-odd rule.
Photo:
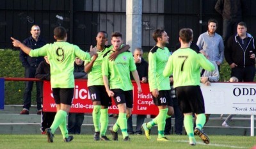
[[[26,67],[25,68],[25,77],[26,78],[35,78],[36,67]],[[40,97],[42,88],[42,82],[36,81],[36,106],[38,110],[42,109],[42,100]],[[29,110],[31,107],[31,91],[33,89],[33,81],[25,82],[25,91],[23,95],[23,108]]]

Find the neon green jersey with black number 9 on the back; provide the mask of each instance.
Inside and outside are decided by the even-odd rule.
[[[51,65],[52,88],[74,88],[74,61],[76,57],[90,59],[90,54],[68,42],[54,42],[29,52],[29,56],[47,56]]]

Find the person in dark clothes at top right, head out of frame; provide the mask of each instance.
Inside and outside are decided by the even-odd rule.
[[[223,42],[226,47],[228,38],[236,33],[238,22],[241,22],[242,15],[248,10],[246,0],[218,0],[215,10],[223,18]]]

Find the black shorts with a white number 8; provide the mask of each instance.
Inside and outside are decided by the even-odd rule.
[[[123,91],[121,89],[112,89],[111,91],[115,93],[114,100],[116,105],[126,103],[126,107],[133,107],[132,90]]]

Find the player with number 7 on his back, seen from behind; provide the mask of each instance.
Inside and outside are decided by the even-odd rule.
[[[193,31],[189,28],[180,29],[180,49],[173,52],[164,68],[163,75],[173,74],[173,88],[180,101],[180,109],[184,113],[184,127],[189,137],[189,144],[196,145],[196,135],[209,144],[210,139],[202,128],[205,124],[204,98],[200,89],[200,68],[214,70],[214,65],[201,53],[190,49]],[[196,128],[193,130],[193,116],[196,114]]]

